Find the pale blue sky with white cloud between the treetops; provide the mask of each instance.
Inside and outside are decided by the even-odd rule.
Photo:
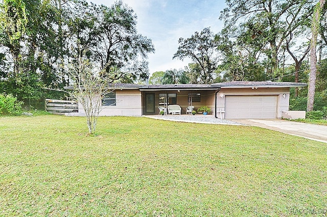
[[[88,0],[110,6],[114,0]],[[137,31],[152,40],[155,53],[148,55],[149,72],[179,69],[191,60],[172,60],[179,38],[190,38],[206,27],[218,33],[223,27],[222,0],[123,0],[137,15]]]

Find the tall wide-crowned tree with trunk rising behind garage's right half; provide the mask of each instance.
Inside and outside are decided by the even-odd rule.
[[[221,15],[225,25],[232,26],[238,21],[250,21],[253,36],[264,36],[268,47],[263,50],[271,64],[270,70],[278,75],[278,53],[285,39],[301,24],[298,20],[312,14],[312,1],[227,0],[226,4],[227,8]],[[289,16],[290,12],[294,16]]]

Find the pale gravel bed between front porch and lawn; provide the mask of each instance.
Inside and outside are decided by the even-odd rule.
[[[157,115],[154,116],[153,118],[162,119],[162,120],[193,122],[193,123],[243,125],[235,121],[230,121],[225,119],[221,120],[219,118],[215,118],[214,116],[204,116],[204,115],[164,115],[164,116]]]

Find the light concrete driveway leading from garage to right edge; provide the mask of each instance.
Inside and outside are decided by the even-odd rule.
[[[299,137],[304,137],[310,140],[327,143],[327,126],[279,119],[235,119],[232,121],[250,126],[258,126],[266,129],[276,130],[290,135],[297,135]]]

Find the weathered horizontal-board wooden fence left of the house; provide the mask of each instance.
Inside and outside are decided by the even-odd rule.
[[[45,99],[45,111],[59,115],[78,112],[78,103],[68,100]]]

